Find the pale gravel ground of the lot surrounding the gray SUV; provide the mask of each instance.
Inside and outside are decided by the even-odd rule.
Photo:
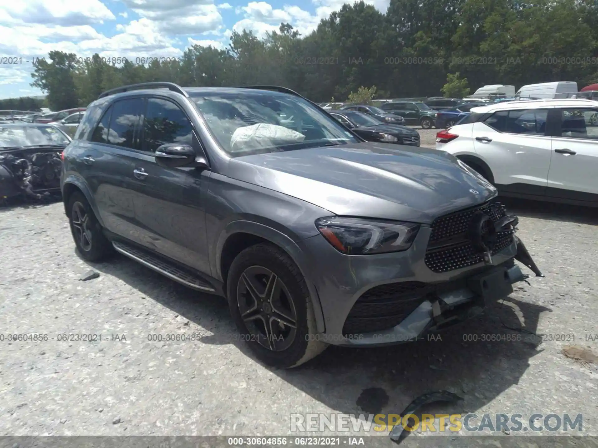
[[[331,347],[286,371],[251,357],[224,300],[125,257],[83,262],[61,203],[0,210],[0,432],[284,435],[290,412],[399,413],[423,392],[449,389],[465,400],[429,410],[582,413],[584,432],[598,434],[596,366],[562,353],[568,344],[598,353],[598,342],[586,340],[598,333],[596,210],[508,205],[521,217],[518,235],[546,278],[530,278],[530,286],[442,340]],[[100,276],[78,280],[90,269]],[[545,336],[538,341],[526,332]],[[13,333],[49,339],[8,342]],[[102,340],[57,340],[69,333]],[[148,340],[173,333],[203,337]],[[522,339],[481,342],[484,334]],[[555,341],[558,334],[575,342]],[[467,335],[477,342],[465,342]]]

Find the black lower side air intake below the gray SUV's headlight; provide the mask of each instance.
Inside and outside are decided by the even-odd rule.
[[[378,332],[398,325],[432,290],[426,283],[405,281],[365,291],[349,312],[343,335]]]

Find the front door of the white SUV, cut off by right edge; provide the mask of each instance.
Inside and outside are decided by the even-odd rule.
[[[556,108],[547,195],[598,201],[598,108]]]

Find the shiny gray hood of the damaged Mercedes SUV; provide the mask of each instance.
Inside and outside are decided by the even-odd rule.
[[[496,196],[490,183],[445,151],[385,143],[247,155],[230,159],[225,174],[332,214],[424,224]]]

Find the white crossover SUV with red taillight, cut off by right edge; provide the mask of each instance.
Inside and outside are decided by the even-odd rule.
[[[491,103],[436,135],[436,149],[474,168],[504,196],[598,207],[598,103]]]

